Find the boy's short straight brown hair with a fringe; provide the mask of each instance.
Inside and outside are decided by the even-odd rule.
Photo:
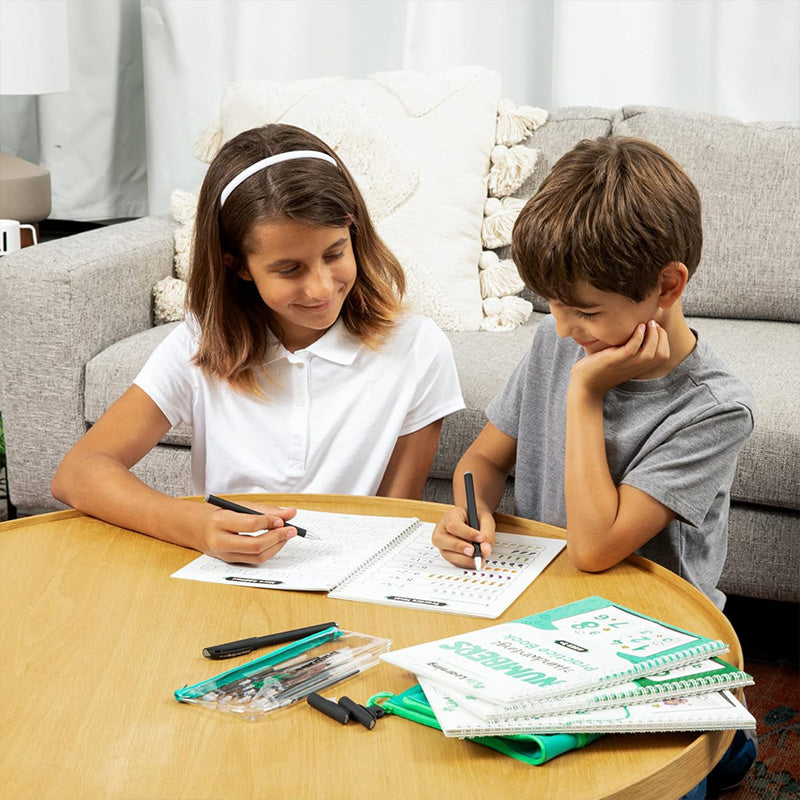
[[[662,267],[700,261],[700,195],[644,139],[584,139],[563,155],[514,225],[512,258],[529,289],[579,305],[576,282],[640,302]]]

